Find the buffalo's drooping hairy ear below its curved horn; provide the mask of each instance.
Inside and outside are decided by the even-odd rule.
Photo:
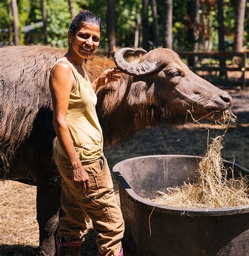
[[[128,105],[132,106],[132,105],[146,103],[146,100],[147,100],[146,91],[147,91],[146,82],[137,81],[132,83],[127,96]]]

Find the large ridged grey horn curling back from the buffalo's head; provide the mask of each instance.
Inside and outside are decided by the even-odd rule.
[[[150,60],[144,60],[141,63],[131,64],[124,60],[123,55],[126,53],[136,52],[132,48],[121,48],[117,50],[114,55],[114,61],[117,67],[122,70],[124,73],[132,76],[144,76],[153,73],[158,69],[156,63],[150,62]],[[139,53],[147,53],[146,50],[139,49]]]

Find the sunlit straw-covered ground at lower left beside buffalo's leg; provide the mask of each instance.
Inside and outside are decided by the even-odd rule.
[[[0,209],[0,230],[2,231],[0,245],[22,244],[31,249],[38,247],[36,187],[17,181],[1,181]],[[2,251],[0,255],[2,255]]]

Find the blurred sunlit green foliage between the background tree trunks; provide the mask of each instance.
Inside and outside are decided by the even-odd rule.
[[[12,17],[9,17],[9,3],[11,0],[0,0],[0,33],[12,24]],[[56,47],[67,47],[67,30],[71,22],[71,14],[67,0],[44,0],[47,11],[47,30],[48,44]],[[151,1],[149,1],[151,2]],[[231,50],[234,40],[234,25],[236,15],[236,0],[224,0],[224,27],[226,49]],[[42,11],[40,0],[18,0],[19,27],[21,44],[25,44],[25,34],[23,28],[26,25],[36,24],[42,21]],[[173,49],[192,50],[188,42],[188,1],[173,1]],[[103,23],[106,23],[107,0],[75,0],[76,13],[80,9],[90,9],[101,17]],[[160,30],[160,42],[163,42],[163,1],[157,1],[158,22]],[[134,34],[139,28],[141,35],[141,0],[116,0],[116,39],[118,46],[133,46]],[[246,13],[249,12],[249,3],[247,3]],[[217,32],[217,5],[216,0],[202,0],[200,8],[200,38],[199,49],[202,50],[207,41],[210,41],[210,49],[217,50],[218,32]],[[153,17],[151,7],[149,6],[149,35],[151,48],[154,47]],[[245,17],[245,39],[248,43],[248,15]],[[107,26],[106,26],[107,30]],[[43,44],[43,28],[36,28],[38,39],[35,44]],[[6,36],[7,38],[8,36]],[[3,40],[3,39],[2,39]],[[100,47],[107,49],[107,34],[102,37]],[[140,38],[141,45],[141,38]]]

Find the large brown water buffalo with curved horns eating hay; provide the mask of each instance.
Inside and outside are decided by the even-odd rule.
[[[194,74],[169,49],[157,48],[134,57],[115,56],[121,79],[97,91],[97,112],[105,146],[123,140],[147,126],[174,126],[184,122],[186,110],[195,118],[231,106],[232,98]],[[60,206],[59,175],[52,159],[56,139],[48,88],[49,72],[64,50],[47,46],[0,49],[1,159],[0,178],[37,186],[40,252],[54,253],[54,231]],[[113,59],[93,56],[84,64],[90,79],[115,66]]]

